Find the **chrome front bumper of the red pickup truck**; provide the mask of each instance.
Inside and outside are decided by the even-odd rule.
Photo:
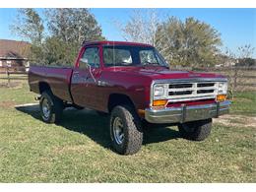
[[[150,123],[184,123],[208,118],[217,118],[229,111],[230,101],[192,105],[181,107],[169,107],[164,109],[146,108],[145,118]]]

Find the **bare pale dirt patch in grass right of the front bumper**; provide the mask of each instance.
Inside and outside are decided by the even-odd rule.
[[[220,118],[214,119],[214,122],[224,124],[225,126],[243,126],[256,128],[256,116],[226,114]]]

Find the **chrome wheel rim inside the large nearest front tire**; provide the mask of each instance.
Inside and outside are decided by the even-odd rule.
[[[115,117],[113,122],[113,136],[115,142],[120,145],[124,141],[123,121],[120,117]]]

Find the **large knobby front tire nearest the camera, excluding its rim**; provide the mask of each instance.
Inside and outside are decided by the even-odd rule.
[[[113,122],[119,117],[123,122],[124,139],[118,144],[114,139]],[[121,155],[133,155],[139,152],[143,142],[141,119],[135,110],[128,105],[117,105],[111,111],[110,136],[114,150]]]

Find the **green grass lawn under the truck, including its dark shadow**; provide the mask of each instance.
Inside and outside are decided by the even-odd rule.
[[[111,151],[108,118],[67,110],[59,125],[40,120],[26,84],[0,88],[0,182],[255,182],[253,127],[214,124],[204,142],[179,137],[176,127],[145,132],[134,156]],[[231,112],[253,114],[253,94]],[[251,101],[253,100],[253,101]],[[243,106],[239,106],[239,104]]]

